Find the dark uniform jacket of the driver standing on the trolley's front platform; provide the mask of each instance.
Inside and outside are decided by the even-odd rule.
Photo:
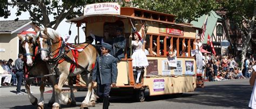
[[[113,52],[114,52],[114,57],[117,58],[117,61],[121,60],[124,58],[124,49],[126,46],[126,39],[122,36],[115,38],[113,41]]]

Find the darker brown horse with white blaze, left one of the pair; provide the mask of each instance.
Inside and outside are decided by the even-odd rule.
[[[26,56],[26,66],[28,67],[29,71],[29,77],[36,77],[36,76],[44,76],[49,74],[49,70],[46,66],[46,62],[41,60],[41,56],[37,52],[36,48],[36,36],[34,34],[26,34],[18,35],[19,39],[21,40],[21,46],[24,49],[23,52],[25,52],[24,56]],[[38,55],[37,55],[38,54]],[[41,92],[41,98],[38,103],[38,108],[44,108],[44,87],[45,87],[45,81],[47,77],[41,78],[41,86],[40,86],[40,92]],[[56,78],[52,75],[49,76],[49,79],[51,80],[52,84],[56,84]],[[37,98],[31,94],[30,91],[30,85],[33,82],[33,79],[28,79],[25,85],[25,88],[28,92],[28,96],[30,99],[30,103],[33,105],[37,104]],[[52,87],[54,88],[54,87]],[[53,91],[55,91],[53,89]],[[71,105],[76,105],[75,96],[73,94],[73,90],[70,90],[71,94]],[[55,102],[55,93],[52,93],[51,100],[48,103],[48,106],[52,106],[52,104]]]

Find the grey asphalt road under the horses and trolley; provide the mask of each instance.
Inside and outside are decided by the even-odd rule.
[[[206,82],[205,88],[197,88],[194,92],[146,97],[142,103],[127,96],[111,97],[109,108],[248,108],[251,92],[249,79]],[[76,92],[77,106],[62,105],[62,108],[79,108],[85,95],[85,91]],[[49,108],[50,97],[51,93],[45,94],[45,108]],[[1,97],[0,101],[0,108],[36,108],[30,104],[27,95]],[[102,103],[90,108],[102,108]]]

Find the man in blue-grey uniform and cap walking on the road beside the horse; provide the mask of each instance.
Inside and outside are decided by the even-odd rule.
[[[102,55],[98,56],[92,70],[92,82],[97,82],[97,95],[103,98],[103,108],[109,108],[109,93],[117,81],[117,60],[109,54],[112,46],[102,43]]]

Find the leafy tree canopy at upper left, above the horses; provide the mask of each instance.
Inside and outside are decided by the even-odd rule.
[[[9,5],[17,6],[18,10],[16,16],[20,16],[22,12],[28,11],[30,13],[30,19],[37,25],[43,25],[44,27],[51,27],[56,30],[60,22],[65,18],[73,18],[82,16],[83,6],[86,1],[15,1],[9,3]],[[50,20],[50,16],[53,16],[53,20]],[[18,20],[18,18],[16,19]]]

